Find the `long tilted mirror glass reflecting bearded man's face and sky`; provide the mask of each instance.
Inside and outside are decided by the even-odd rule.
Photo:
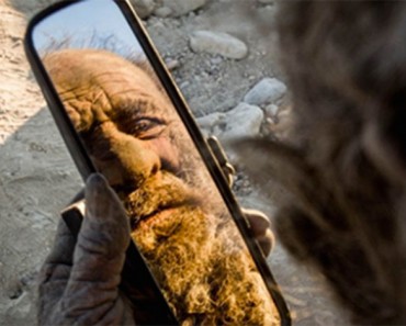
[[[120,7],[110,0],[68,5],[32,36],[179,322],[280,325],[273,284],[261,278]]]

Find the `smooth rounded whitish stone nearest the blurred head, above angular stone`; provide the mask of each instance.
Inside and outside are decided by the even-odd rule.
[[[244,102],[255,105],[272,103],[286,92],[286,86],[277,78],[263,78],[245,97]]]

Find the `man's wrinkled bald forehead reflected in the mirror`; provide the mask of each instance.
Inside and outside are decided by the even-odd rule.
[[[128,110],[140,115],[170,111],[155,80],[112,53],[66,49],[47,55],[44,64],[78,131],[88,130],[94,119],[113,119]]]

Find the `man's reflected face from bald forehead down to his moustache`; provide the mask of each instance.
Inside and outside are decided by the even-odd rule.
[[[133,198],[127,210],[134,224],[195,200],[180,179],[196,183],[199,175],[185,131],[145,68],[102,50],[64,50],[49,55],[47,66],[95,167],[124,200]],[[143,187],[156,192],[162,184],[153,207]],[[135,199],[137,189],[143,198]]]

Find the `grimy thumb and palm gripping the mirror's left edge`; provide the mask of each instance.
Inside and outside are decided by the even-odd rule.
[[[100,175],[86,186],[87,211],[78,238],[60,221],[54,248],[40,273],[40,325],[134,325],[119,292],[129,225]]]

